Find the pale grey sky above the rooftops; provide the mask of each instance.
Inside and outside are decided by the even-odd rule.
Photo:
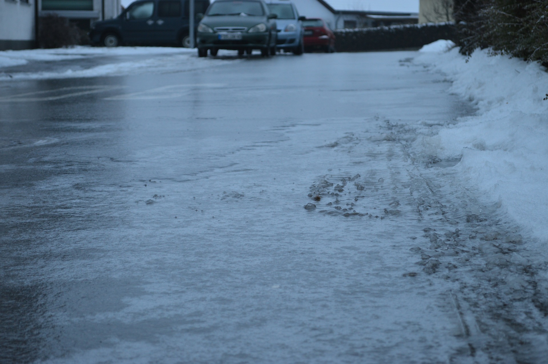
[[[134,0],[122,0],[127,7]],[[336,10],[377,10],[419,12],[419,0],[326,0]]]

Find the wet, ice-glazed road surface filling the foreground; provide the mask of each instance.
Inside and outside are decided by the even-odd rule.
[[[421,148],[474,110],[415,55],[0,83],[0,362],[545,363],[545,270]]]

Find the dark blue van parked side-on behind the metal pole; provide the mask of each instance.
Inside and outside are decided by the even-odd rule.
[[[196,0],[195,15],[203,14],[208,6],[209,0]],[[89,39],[92,44],[105,47],[121,44],[176,44],[190,47],[189,1],[133,2],[117,18],[95,22]]]

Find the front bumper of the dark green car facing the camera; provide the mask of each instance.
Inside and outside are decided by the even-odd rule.
[[[196,47],[202,49],[265,49],[270,47],[270,34],[265,33],[242,33],[242,39],[221,40],[219,33],[198,33]]]

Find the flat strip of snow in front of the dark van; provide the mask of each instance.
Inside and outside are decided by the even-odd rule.
[[[92,66],[79,65],[78,60],[102,57]],[[132,58],[133,57],[133,58]],[[36,62],[74,60],[71,65],[42,70]],[[31,65],[34,62],[35,65]],[[49,79],[98,76],[122,76],[136,72],[188,71],[214,66],[220,60],[203,62],[195,49],[171,47],[117,47],[99,48],[78,46],[73,48],[30,49],[0,51],[0,80]],[[225,60],[226,62],[226,60]],[[14,71],[13,66],[19,67]]]

